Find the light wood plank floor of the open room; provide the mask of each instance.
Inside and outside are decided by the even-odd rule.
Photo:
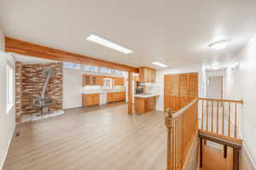
[[[4,170],[165,170],[165,115],[127,116],[124,103],[19,124]]]

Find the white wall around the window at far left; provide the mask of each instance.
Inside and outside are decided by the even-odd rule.
[[[3,32],[0,30],[0,44],[3,44]],[[14,62],[11,55],[4,54],[0,48],[0,169],[3,167],[9,149],[9,143],[15,129],[15,108],[6,111],[6,64],[7,59]]]

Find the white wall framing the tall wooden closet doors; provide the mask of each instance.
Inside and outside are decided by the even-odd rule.
[[[156,86],[160,89],[160,96],[156,103],[157,110],[164,111],[164,75],[181,74],[181,73],[189,73],[189,72],[198,72],[199,96],[202,96],[204,81],[203,81],[203,72],[202,72],[201,65],[190,65],[190,66],[179,67],[175,69],[156,71]]]

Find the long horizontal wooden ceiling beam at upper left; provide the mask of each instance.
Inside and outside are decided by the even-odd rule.
[[[32,42],[21,41],[12,37],[5,37],[5,51],[42,59],[53,59],[57,61],[67,61],[84,65],[95,65],[121,71],[138,72],[136,67],[129,65],[122,65],[103,59],[95,59],[81,54],[73,54],[55,48],[48,48]]]

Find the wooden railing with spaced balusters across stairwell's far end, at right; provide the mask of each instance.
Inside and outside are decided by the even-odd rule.
[[[238,106],[243,104],[242,100],[207,98],[199,98],[199,100],[201,102],[199,128],[202,131],[239,138]]]

